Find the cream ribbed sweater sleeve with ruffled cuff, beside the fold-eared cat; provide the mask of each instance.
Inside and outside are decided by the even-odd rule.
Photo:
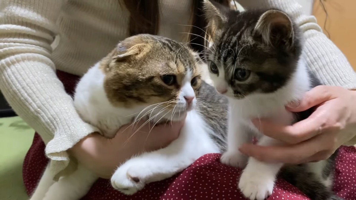
[[[66,152],[97,131],[75,111],[56,76],[51,43],[64,0],[2,0],[0,89],[14,111],[42,137],[55,176],[69,164]]]

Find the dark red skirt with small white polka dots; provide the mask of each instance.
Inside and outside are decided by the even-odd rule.
[[[70,77],[59,72],[63,77]],[[66,88],[73,88],[77,77],[63,81]],[[72,90],[67,89],[71,94]],[[36,133],[23,164],[23,180],[28,194],[32,194],[47,165],[45,144]],[[190,167],[172,178],[150,183],[135,195],[126,196],[114,190],[109,180],[97,180],[83,200],[244,200],[237,189],[237,177],[241,171],[223,165],[220,154],[206,154]],[[356,148],[343,146],[336,160],[334,191],[346,200],[356,200]],[[297,188],[278,179],[268,200],[308,200]]]

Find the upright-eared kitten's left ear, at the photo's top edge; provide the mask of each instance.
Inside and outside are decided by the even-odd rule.
[[[231,10],[215,1],[203,0],[203,11],[208,21],[207,32],[214,40],[224,24],[227,23],[227,15]]]

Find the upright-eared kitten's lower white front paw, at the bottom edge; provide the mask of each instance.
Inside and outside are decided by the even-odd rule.
[[[250,200],[264,200],[272,195],[275,178],[265,175],[252,171],[242,172],[239,181],[241,193]]]

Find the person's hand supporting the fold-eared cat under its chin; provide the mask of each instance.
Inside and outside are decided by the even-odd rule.
[[[173,122],[152,128],[152,124],[143,125],[145,121],[120,127],[112,139],[93,133],[75,144],[70,153],[99,177],[110,178],[117,166],[132,156],[168,146],[179,136],[184,124],[184,121]]]

